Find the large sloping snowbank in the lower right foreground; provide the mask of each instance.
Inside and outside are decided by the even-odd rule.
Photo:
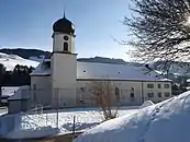
[[[189,142],[190,91],[105,121],[74,142]]]

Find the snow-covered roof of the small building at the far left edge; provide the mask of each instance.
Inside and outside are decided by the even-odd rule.
[[[4,96],[12,96],[16,91],[19,90],[19,86],[2,86],[1,87],[1,97]]]

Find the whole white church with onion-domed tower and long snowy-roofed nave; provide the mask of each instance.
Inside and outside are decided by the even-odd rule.
[[[141,105],[171,97],[171,82],[146,67],[77,61],[75,26],[65,16],[53,25],[53,52],[31,73],[31,85],[9,98],[10,108],[94,106],[94,82],[110,82],[121,105]],[[119,97],[120,96],[120,97]],[[14,110],[12,110],[14,111]],[[16,110],[15,110],[16,111]]]

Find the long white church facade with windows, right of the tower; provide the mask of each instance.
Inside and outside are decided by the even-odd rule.
[[[92,103],[90,100],[90,95],[88,93],[88,90],[90,87],[90,84],[93,82],[107,82],[107,80],[78,80],[77,88],[83,88],[86,90],[85,95],[82,96],[82,92],[79,91],[77,94],[78,103],[80,99],[83,99],[85,104],[91,105]],[[113,91],[115,87],[120,90],[120,105],[141,105],[145,100],[153,100],[154,103],[158,103],[165,99],[168,99],[171,97],[171,83],[168,82],[161,82],[161,81],[120,81],[120,80],[110,80],[113,84]],[[148,86],[153,85],[152,88]],[[161,87],[158,87],[158,84]],[[165,88],[166,86],[168,86]],[[132,91],[132,88],[134,91]]]

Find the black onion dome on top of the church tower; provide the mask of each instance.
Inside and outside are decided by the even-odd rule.
[[[64,15],[63,19],[59,19],[58,21],[56,21],[54,23],[53,31],[54,32],[59,32],[59,33],[66,33],[66,34],[74,34],[75,33],[75,26]]]

